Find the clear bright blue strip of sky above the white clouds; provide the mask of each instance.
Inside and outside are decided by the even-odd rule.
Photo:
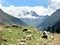
[[[48,6],[48,0],[1,0],[3,6]]]

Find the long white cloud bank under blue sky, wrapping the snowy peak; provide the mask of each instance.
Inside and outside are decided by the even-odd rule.
[[[21,14],[20,17],[23,18],[36,18],[32,15],[23,15],[23,11],[35,11],[38,15],[40,16],[45,16],[45,15],[51,15],[53,10],[51,8],[45,8],[43,6],[34,6],[34,7],[29,7],[29,6],[23,6],[23,7],[16,7],[14,5],[10,5],[8,7],[4,7],[2,4],[0,4],[0,8],[15,17],[19,17],[18,14]]]

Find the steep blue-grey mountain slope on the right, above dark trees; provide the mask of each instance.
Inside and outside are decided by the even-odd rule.
[[[60,21],[60,9],[56,10],[51,16],[49,16],[43,23],[38,25],[42,30],[48,29],[48,27],[54,26]]]

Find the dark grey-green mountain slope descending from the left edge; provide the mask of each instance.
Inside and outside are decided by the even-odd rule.
[[[27,25],[22,20],[5,13],[1,9],[0,9],[0,23],[5,24],[5,25],[11,25],[11,24]]]

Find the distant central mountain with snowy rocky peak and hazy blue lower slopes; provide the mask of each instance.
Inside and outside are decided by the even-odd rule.
[[[35,11],[22,11],[22,13],[17,14],[17,18],[21,19],[29,26],[37,27],[40,23],[42,23],[48,15],[46,16],[39,16]]]

